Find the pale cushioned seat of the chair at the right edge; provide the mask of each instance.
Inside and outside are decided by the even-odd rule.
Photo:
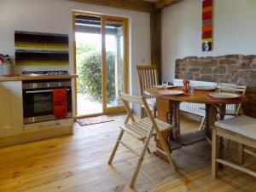
[[[232,119],[220,120],[215,125],[221,129],[256,140],[256,119],[251,117],[241,115]]]

